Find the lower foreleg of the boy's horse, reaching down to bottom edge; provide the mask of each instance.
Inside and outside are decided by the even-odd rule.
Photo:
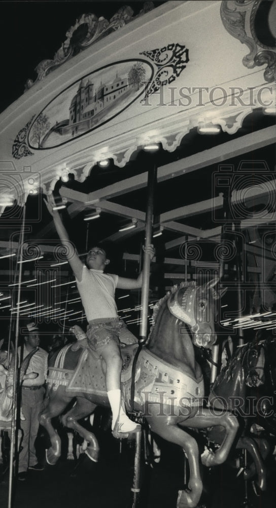
[[[190,478],[188,489],[179,491],[177,508],[194,508],[199,502],[203,488],[196,440],[178,427],[179,422],[176,418],[156,416],[155,418],[149,417],[147,420],[152,432],[163,437],[166,441],[179,444],[186,454],[190,467]]]

